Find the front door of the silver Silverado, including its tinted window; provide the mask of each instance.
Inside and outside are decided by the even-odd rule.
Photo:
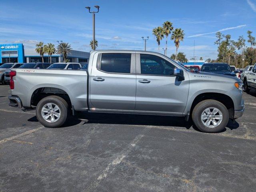
[[[176,67],[173,64],[159,56],[136,54],[135,110],[174,115],[184,112],[189,79],[184,72],[185,80],[178,81],[173,75],[174,68]]]

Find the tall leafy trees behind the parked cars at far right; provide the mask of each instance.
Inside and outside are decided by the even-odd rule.
[[[252,36],[252,31],[247,31],[247,42],[250,46],[246,46],[246,39],[239,36],[237,40],[232,40],[231,35],[224,35],[221,32],[216,33],[217,40],[214,44],[218,45],[218,58],[207,62],[225,62],[234,65],[237,68],[244,68],[248,65],[256,63],[256,45],[255,37]]]

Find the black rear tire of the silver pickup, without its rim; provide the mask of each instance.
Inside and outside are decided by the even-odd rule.
[[[56,122],[47,122],[44,120],[41,114],[41,110],[43,106],[47,103],[56,104],[60,108],[60,117]],[[68,116],[68,103],[59,96],[48,96],[40,100],[36,106],[36,117],[38,121],[45,127],[60,127],[62,126],[67,119]]]

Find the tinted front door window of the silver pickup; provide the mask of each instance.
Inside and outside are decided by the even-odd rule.
[[[175,66],[154,55],[140,54],[141,74],[173,75]]]

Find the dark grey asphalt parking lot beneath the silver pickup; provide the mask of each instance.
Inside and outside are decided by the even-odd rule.
[[[256,189],[256,93],[207,134],[184,118],[80,113],[44,128],[0,85],[0,192],[242,192]]]

